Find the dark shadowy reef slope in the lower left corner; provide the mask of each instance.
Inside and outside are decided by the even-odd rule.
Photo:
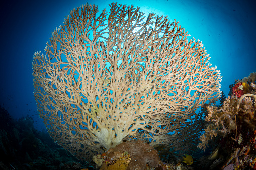
[[[0,169],[93,169],[58,146],[31,116],[13,119],[0,107]]]

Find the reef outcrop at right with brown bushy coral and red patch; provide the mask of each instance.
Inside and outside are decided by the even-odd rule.
[[[218,137],[218,154],[224,158],[220,162],[221,169],[256,167],[256,88],[254,82],[250,82],[253,78],[247,80],[236,81],[232,96],[228,96],[221,106],[207,106],[207,128],[198,147],[205,151],[208,142]],[[211,167],[217,162],[218,159]]]

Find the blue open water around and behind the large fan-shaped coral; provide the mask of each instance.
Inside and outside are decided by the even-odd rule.
[[[31,141],[33,138],[33,136],[28,138],[28,134],[33,134],[42,140],[45,139],[45,143],[58,148],[55,143],[50,141],[45,125],[37,113],[33,95],[33,55],[36,51],[44,52],[46,42],[52,36],[53,30],[63,24],[64,18],[69,14],[70,10],[89,3],[98,5],[99,11],[104,8],[109,11],[109,4],[112,2],[108,0],[47,0],[0,3],[2,7],[0,10],[0,34],[2,40],[0,46],[0,113],[2,121],[10,120],[9,125],[3,126],[2,123],[1,130],[5,129],[8,132],[10,130],[8,126],[14,127],[17,125],[16,135],[18,137],[16,139],[28,143],[26,140]],[[138,0],[117,1],[117,3],[138,6],[145,15],[156,13],[158,15],[167,15],[170,21],[173,21],[173,19],[179,21],[185,31],[188,31],[188,34],[191,35],[190,38],[194,37],[196,40],[202,41],[207,53],[210,54],[210,63],[220,70],[222,76],[221,90],[226,96],[230,91],[229,85],[234,84],[236,79],[242,79],[250,73],[256,72],[256,6],[254,0]],[[8,117],[9,115],[10,117]],[[4,123],[7,122],[5,121]],[[26,133],[26,130],[32,133]],[[39,132],[42,133],[39,134]],[[21,134],[23,134],[23,137]],[[23,145],[20,141],[16,141],[16,149],[24,151],[24,148],[28,147],[31,149],[31,153],[27,151],[29,155],[40,154],[40,152],[33,151],[39,147],[38,145],[28,144],[28,146],[24,145],[21,148],[18,147]],[[35,143],[37,142],[35,141]],[[9,144],[10,146],[15,145],[15,143]],[[61,148],[58,149],[59,155],[70,154],[61,150]],[[71,157],[71,155],[68,156]],[[12,158],[13,160],[16,159],[14,157],[9,159]],[[78,160],[70,158],[67,161]],[[32,158],[30,162],[33,162]],[[12,169],[12,163],[15,164],[15,161],[10,161],[10,169]],[[32,164],[25,164],[24,169],[26,168],[32,168]]]

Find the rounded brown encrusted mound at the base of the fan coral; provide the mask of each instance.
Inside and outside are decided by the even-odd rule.
[[[120,169],[114,168],[120,163],[127,170],[145,169],[146,166],[156,168],[161,164],[157,150],[141,140],[123,142],[100,156],[104,160],[100,169]]]

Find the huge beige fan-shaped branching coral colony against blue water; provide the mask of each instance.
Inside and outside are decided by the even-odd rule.
[[[34,96],[51,137],[78,158],[134,138],[196,146],[220,72],[176,20],[133,6],[73,9],[33,58]],[[187,152],[189,154],[189,152]]]

